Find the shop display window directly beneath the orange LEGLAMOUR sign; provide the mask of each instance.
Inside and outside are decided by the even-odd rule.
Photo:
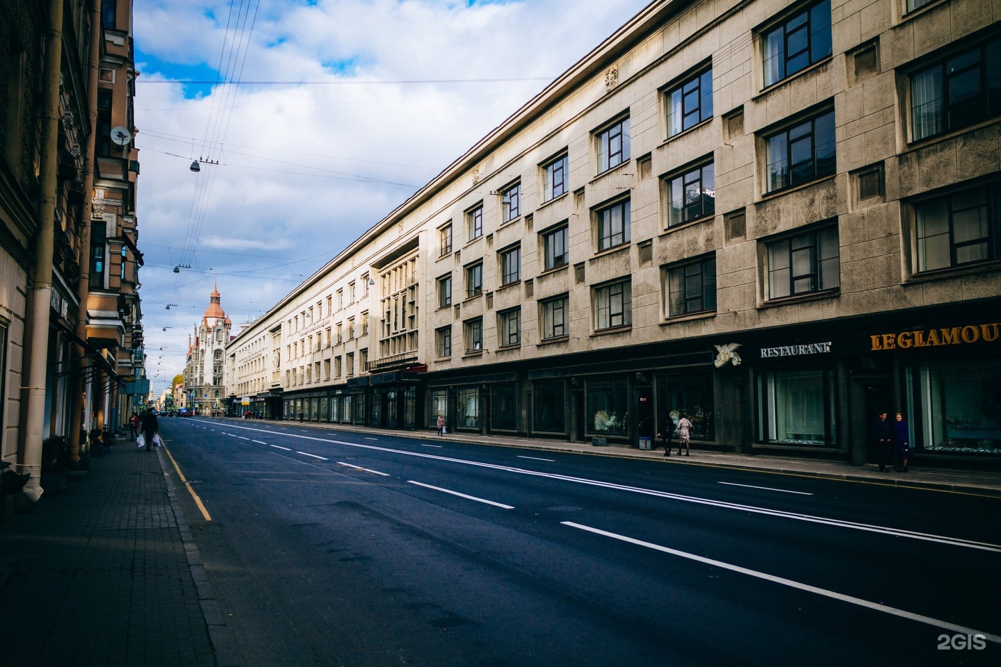
[[[925,451],[1001,455],[1001,361],[921,364],[917,385],[921,437],[911,437]]]

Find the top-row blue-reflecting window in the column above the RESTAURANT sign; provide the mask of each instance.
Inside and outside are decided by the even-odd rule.
[[[831,55],[831,0],[793,14],[762,35],[765,86]]]

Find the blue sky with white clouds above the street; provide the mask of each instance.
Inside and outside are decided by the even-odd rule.
[[[235,335],[648,3],[134,0],[154,393],[214,286]]]

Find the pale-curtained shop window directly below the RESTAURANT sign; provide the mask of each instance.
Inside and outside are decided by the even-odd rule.
[[[834,374],[824,369],[758,376],[758,440],[834,445]]]

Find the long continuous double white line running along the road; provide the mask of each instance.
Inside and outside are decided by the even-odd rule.
[[[247,431],[260,431],[262,429],[254,429],[249,427],[237,426],[235,428],[242,428]],[[645,489],[643,487],[637,486],[626,486],[623,484],[613,484],[612,482],[603,482],[596,479],[588,479],[587,477],[573,477],[570,475],[560,475],[557,473],[541,472],[538,470],[528,470],[525,468],[515,468],[512,466],[498,465],[495,463],[482,463],[480,461],[470,461],[468,459],[458,459],[450,456],[441,456],[438,454],[424,454],[422,452],[411,452],[405,449],[393,449],[391,447],[380,447],[377,445],[366,445],[360,442],[347,442],[346,440],[333,440],[330,438],[318,438],[316,436],[305,436],[305,435],[295,435],[290,433],[287,435],[290,438],[301,438],[302,440],[312,440],[314,442],[327,442],[335,445],[345,445],[347,447],[356,447],[359,449],[371,449],[379,452],[388,452],[390,454],[400,454],[404,456],[416,456],[419,458],[431,459],[435,461],[446,461],[448,463],[460,463],[462,465],[474,466],[477,468],[487,468],[489,470],[503,470],[507,472],[514,472],[520,475],[529,475],[532,477],[544,477],[546,479],[556,479],[565,482],[573,482],[575,484],[585,484],[588,486],[598,486],[606,489],[615,489],[619,491],[627,491],[630,493],[639,493],[648,496],[654,496],[657,498],[668,498],[671,500],[678,500],[681,502],[695,503],[698,505],[709,505],[711,507],[719,507],[722,509],[732,509],[739,512],[752,512],[756,514],[765,514],[769,516],[775,516],[782,519],[793,519],[796,521],[806,521],[808,523],[820,523],[829,526],[835,526],[838,528],[851,528],[853,530],[863,530],[873,533],[880,533],[883,535],[889,535],[893,537],[907,537],[915,540],[925,540],[928,542],[939,542],[941,544],[948,544],[956,547],[966,547],[968,549],[980,549],[982,551],[992,551],[995,553],[1001,553],[1001,544],[992,544],[990,542],[977,542],[974,540],[965,540],[958,537],[948,537],[944,535],[934,535],[931,533],[919,533],[911,530],[903,530],[900,528],[889,528],[886,526],[875,526],[865,523],[856,523],[853,521],[842,521],[840,519],[828,519],[826,517],[814,516],[811,514],[800,514],[797,512],[784,512],[781,510],[773,510],[767,507],[758,507],[755,505],[742,505],[740,503],[730,503],[722,500],[711,500],[709,498],[699,498],[698,496],[685,496],[679,493],[670,493],[668,491],[657,491],[654,489]],[[272,445],[273,446],[273,445]],[[426,445],[428,447],[436,447],[437,445]]]

